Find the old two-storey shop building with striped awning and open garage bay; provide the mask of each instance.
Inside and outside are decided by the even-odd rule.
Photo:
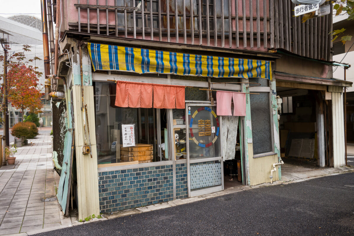
[[[70,185],[84,219],[221,191],[236,172],[243,185],[279,180],[281,155],[345,165],[352,83],[332,78],[331,16],[301,23],[288,0],[115,2],[57,7],[65,214]]]

